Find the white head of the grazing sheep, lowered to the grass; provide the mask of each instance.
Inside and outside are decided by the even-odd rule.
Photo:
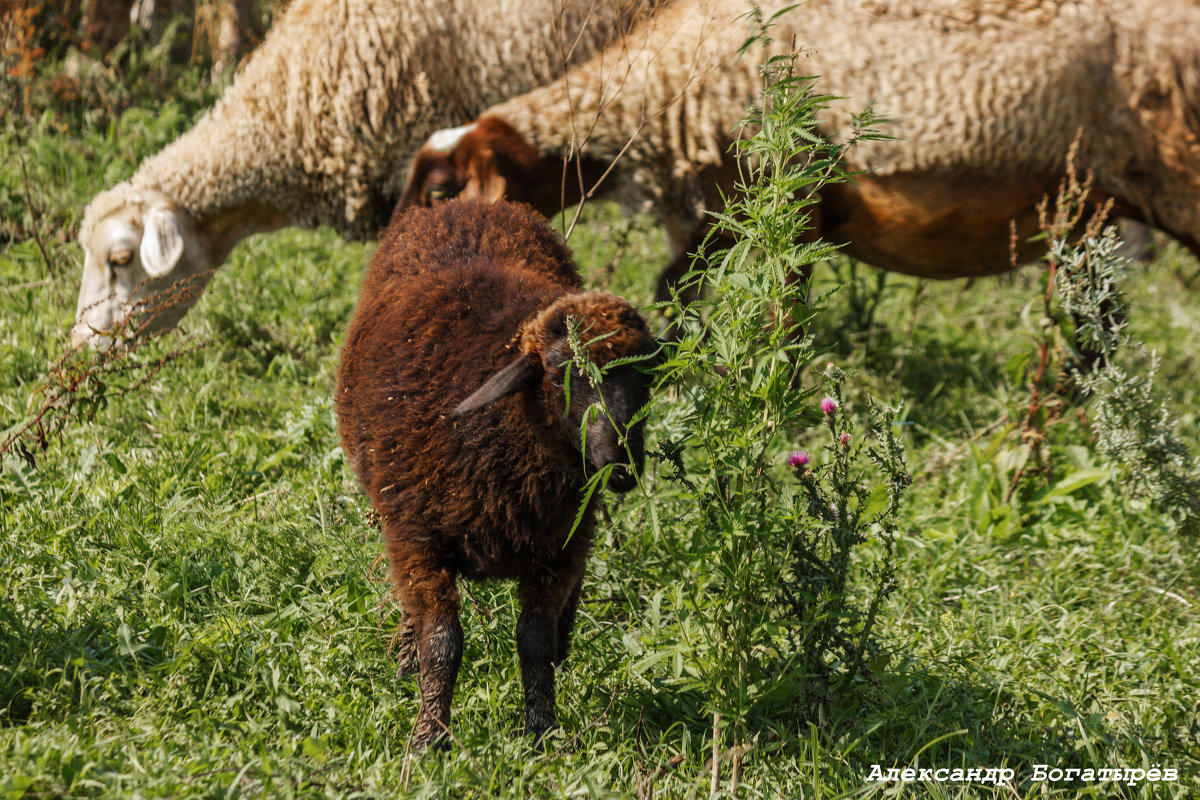
[[[83,282],[73,347],[106,347],[131,314],[137,332],[170,327],[199,297],[211,272],[190,218],[162,192],[119,184],[95,197],[79,227]]]

